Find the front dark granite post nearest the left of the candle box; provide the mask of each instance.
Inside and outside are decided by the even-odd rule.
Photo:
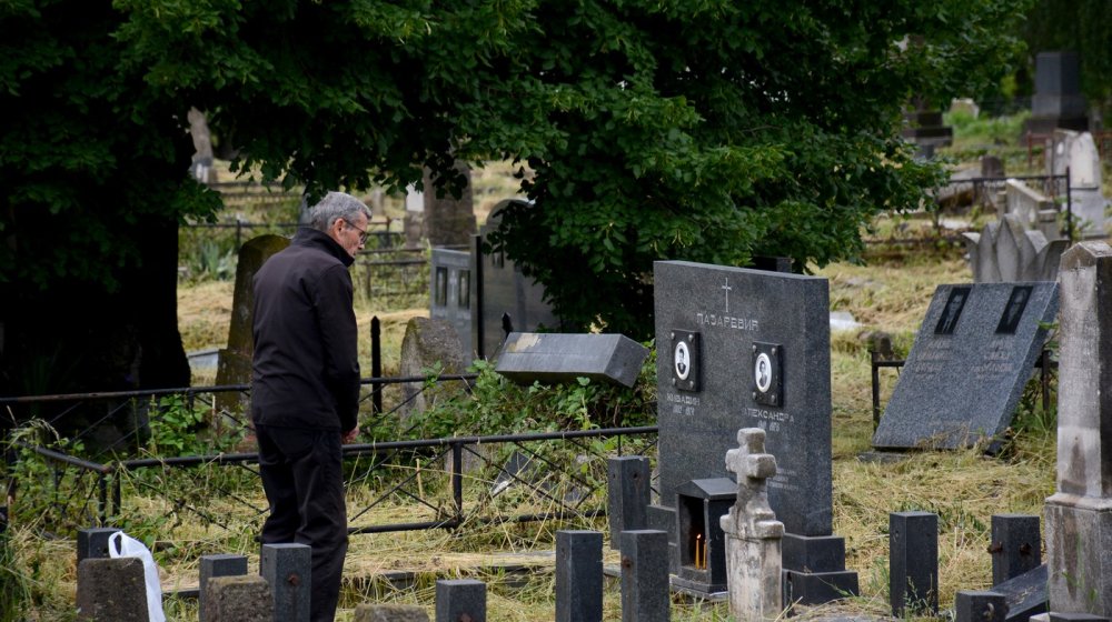
[[[622,532],[622,622],[667,622],[671,618],[667,551],[667,532]]]

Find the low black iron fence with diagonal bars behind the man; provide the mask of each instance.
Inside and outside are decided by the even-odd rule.
[[[437,382],[464,382],[474,374],[443,377]],[[365,401],[374,401],[389,384],[421,383],[426,378],[375,378]],[[191,408],[216,412],[216,395],[246,394],[248,385],[167,389],[146,392],[83,393],[0,399],[0,408],[29,404],[53,407],[52,420],[73,412],[79,404],[109,402],[111,413],[148,407],[158,424],[160,399],[175,397]],[[130,404],[130,405],[128,405]],[[400,407],[395,407],[395,411]],[[40,409],[41,410],[41,409]],[[217,433],[250,433],[235,412],[219,411]],[[395,412],[385,415],[394,415]],[[380,415],[375,415],[380,417]],[[64,444],[47,447],[33,441],[10,443],[7,490],[18,506],[23,491],[32,491],[41,506],[40,528],[64,532],[100,524],[166,524],[189,519],[229,531],[237,525],[261,524],[267,503],[252,451],[197,455],[126,457],[122,447],[135,447],[137,428],[121,444],[92,455],[76,449],[95,432],[80,431]],[[523,434],[475,435],[351,444],[344,448],[351,533],[384,533],[429,529],[458,529],[504,522],[605,515],[606,459],[655,453],[656,428],[550,431]],[[88,452],[87,452],[88,453]],[[22,461],[21,469],[16,463]],[[33,461],[33,464],[28,464]],[[20,481],[17,472],[24,479]],[[18,514],[18,512],[13,512]],[[399,520],[401,516],[404,520]],[[240,526],[241,528],[241,526]]]

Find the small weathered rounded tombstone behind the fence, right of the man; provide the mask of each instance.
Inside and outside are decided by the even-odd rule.
[[[418,317],[410,318],[406,323],[398,368],[403,378],[424,377],[434,369],[439,373],[464,373],[468,364],[470,361],[465,360],[460,352],[459,335],[447,321]],[[405,421],[411,413],[424,412],[433,408],[437,400],[461,390],[463,385],[455,382],[437,383],[435,387],[426,387],[424,382],[403,383],[403,403],[398,412]]]

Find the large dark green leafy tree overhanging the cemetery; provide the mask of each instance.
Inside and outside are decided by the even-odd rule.
[[[8,2],[0,287],[30,311],[0,318],[3,387],[86,321],[138,333],[142,384],[181,380],[172,234],[218,205],[185,174],[191,106],[315,193],[527,164],[495,244],[565,319],[645,337],[654,260],[822,264],[915,205],[935,173],[902,108],[1006,71],[1021,2]]]

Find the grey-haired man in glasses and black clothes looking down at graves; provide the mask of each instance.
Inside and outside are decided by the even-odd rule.
[[[312,548],[312,622],[330,622],[347,552],[342,443],[359,428],[358,339],[348,267],[370,210],[329,192],[255,275],[251,420],[270,503],[264,543]]]

